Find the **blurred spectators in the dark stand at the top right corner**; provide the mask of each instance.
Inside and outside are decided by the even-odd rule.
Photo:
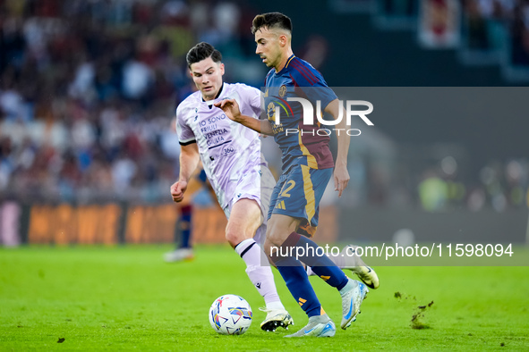
[[[340,2],[341,0],[333,0]],[[345,0],[344,0],[345,1]],[[369,1],[369,0],[368,0]],[[459,22],[457,46],[477,55],[474,63],[501,63],[529,68],[529,1],[527,0],[373,0],[386,21],[417,27],[421,5],[430,9],[431,29],[439,32]],[[350,3],[365,3],[350,0]],[[435,14],[433,14],[435,13]]]

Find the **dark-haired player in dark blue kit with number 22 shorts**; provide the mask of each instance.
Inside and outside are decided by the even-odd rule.
[[[268,120],[258,121],[241,114],[233,99],[223,100],[217,105],[235,122],[273,135],[282,151],[282,174],[270,202],[264,248],[294,299],[309,316],[309,323],[302,330],[287,337],[334,336],[335,324],[321,308],[302,262],[338,289],[342,297],[341,328],[346,329],[355,320],[369,290],[363,282],[349,279],[310,237],[318,224],[320,199],[333,176],[333,168],[338,195],[341,196],[346,189],[349,180],[346,167],[349,136],[346,133],[337,135],[335,165],[328,147],[329,137],[325,133],[321,136],[317,133],[320,123],[314,122],[312,116],[311,123],[304,124],[303,105],[288,98],[303,97],[313,106],[320,100],[323,110],[335,119],[342,107],[320,72],[294,55],[291,47],[292,22],[286,15],[264,13],[256,16],[252,33],[257,43],[256,54],[272,68],[265,79],[264,108]],[[284,112],[279,122],[276,119],[277,108]],[[346,129],[345,119],[337,123],[336,129]],[[357,272],[359,277],[371,287],[378,287],[375,272],[366,268],[365,272]]]

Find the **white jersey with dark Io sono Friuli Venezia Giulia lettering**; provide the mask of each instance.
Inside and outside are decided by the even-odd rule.
[[[205,102],[201,92],[197,91],[178,105],[176,132],[181,145],[197,143],[218,204],[229,216],[229,208],[238,197],[254,196],[251,198],[257,197],[261,203],[261,180],[255,175],[260,175],[260,168],[267,168],[267,163],[260,153],[259,134],[231,121],[221,109],[213,106],[223,99],[235,99],[241,113],[259,119],[260,90],[240,83],[224,83],[215,100]],[[252,179],[251,184],[248,179]],[[273,188],[274,184],[273,177],[271,180],[266,178],[267,189],[270,185]]]

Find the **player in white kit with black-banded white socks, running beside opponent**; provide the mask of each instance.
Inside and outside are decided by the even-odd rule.
[[[235,99],[243,113],[259,119],[260,90],[222,80],[222,55],[201,42],[187,53],[192,80],[199,91],[176,109],[176,132],[182,147],[180,175],[171,196],[181,202],[192,172],[201,160],[218,204],[228,219],[226,239],[246,263],[246,273],[266,303],[264,331],[293,323],[277,295],[274,277],[260,247],[266,233],[269,200],[276,180],[260,153],[259,134],[231,121],[213,104]]]

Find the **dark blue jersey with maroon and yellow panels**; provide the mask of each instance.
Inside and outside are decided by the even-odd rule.
[[[303,97],[311,102],[315,112],[316,102],[319,100],[323,112],[328,103],[337,99],[337,96],[328,88],[320,72],[293,54],[281,71],[269,71],[265,87],[264,107],[274,131],[274,138],[283,154],[283,171],[296,164],[308,165],[312,169],[334,167],[328,148],[329,137],[325,133],[317,133],[320,130],[320,122],[316,115],[311,116],[311,123],[304,124],[302,104],[287,101],[288,97]],[[277,107],[279,124],[275,119]]]

